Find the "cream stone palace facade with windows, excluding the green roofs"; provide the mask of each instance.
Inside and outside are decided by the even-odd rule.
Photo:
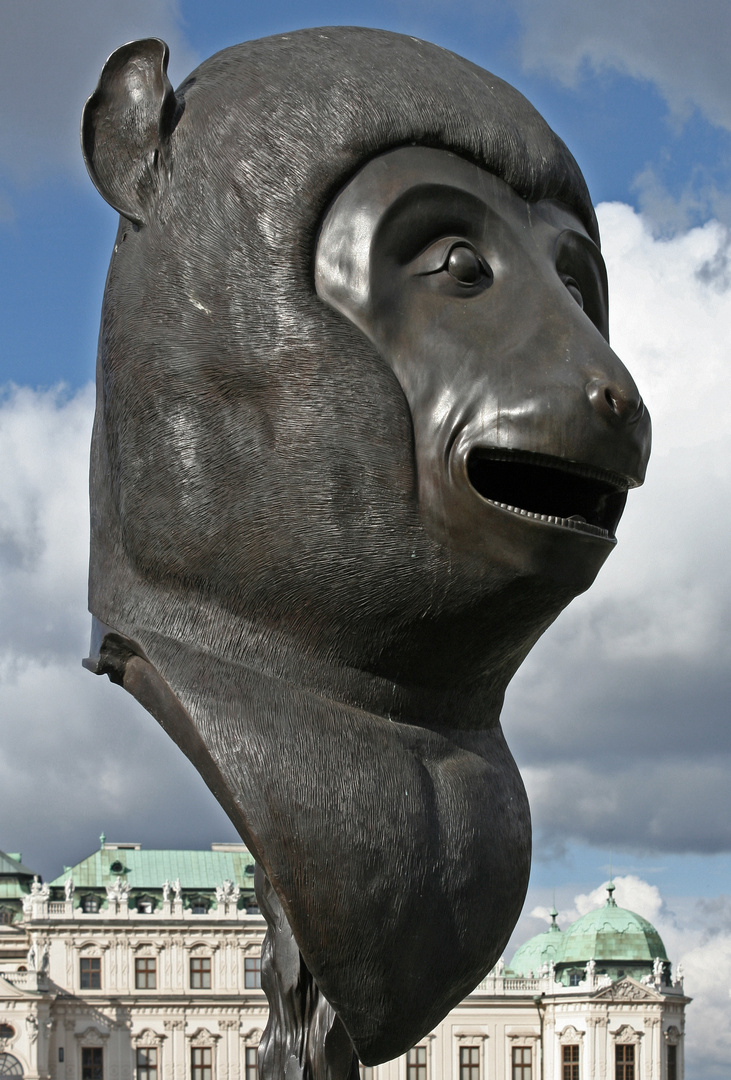
[[[193,914],[171,887],[149,915],[122,894],[86,914],[72,895],[31,892],[23,921],[0,927],[0,1077],[256,1080],[265,923],[234,892],[221,886],[218,907]],[[610,983],[590,970],[564,987],[551,973],[496,972],[409,1059],[363,1071],[369,1080],[682,1080],[687,1001],[681,981]]]

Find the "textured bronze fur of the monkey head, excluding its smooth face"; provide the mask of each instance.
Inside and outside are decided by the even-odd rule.
[[[101,320],[90,608],[172,688],[187,718],[171,733],[358,1054],[382,1061],[479,981],[517,919],[530,825],[499,710],[576,590],[506,582],[424,530],[404,394],[315,295],[317,229],[357,168],[410,144],[561,201],[596,238],[594,213],[520,94],[416,39],[249,42],[175,99],[155,69],[158,127],[117,111],[126,65],[84,132],[99,189],[135,207]]]

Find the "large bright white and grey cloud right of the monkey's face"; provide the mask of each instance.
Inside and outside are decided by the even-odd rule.
[[[543,842],[729,850],[728,232],[658,240],[619,204],[599,220],[612,345],[652,414],[653,456],[596,584],[516,676],[505,731]]]

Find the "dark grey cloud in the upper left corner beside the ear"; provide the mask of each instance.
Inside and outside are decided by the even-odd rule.
[[[83,173],[81,109],[107,56],[134,38],[171,46],[173,82],[194,57],[177,0],[33,0],[3,5],[0,36],[0,172],[42,180],[49,170]],[[0,207],[0,219],[2,210]],[[6,214],[5,214],[6,216]]]

